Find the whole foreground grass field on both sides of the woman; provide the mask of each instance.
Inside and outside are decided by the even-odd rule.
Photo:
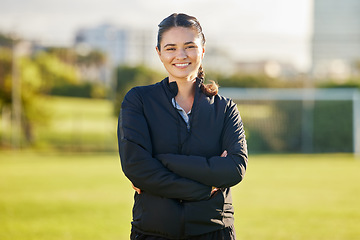
[[[240,240],[360,238],[360,159],[254,155],[233,188]],[[117,154],[0,152],[1,240],[129,239]]]

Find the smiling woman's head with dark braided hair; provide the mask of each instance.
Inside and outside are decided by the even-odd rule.
[[[165,69],[169,72],[169,81],[174,81],[176,71],[180,69],[180,78],[187,77],[191,81],[197,76],[204,80],[202,60],[205,54],[205,35],[202,27],[195,17],[185,14],[173,14],[159,24],[156,51]],[[161,46],[162,45],[162,46]],[[191,65],[191,66],[190,66]],[[174,66],[175,68],[171,68]],[[177,83],[179,84],[178,81]],[[213,96],[217,94],[218,87],[212,82],[201,84],[203,92]],[[180,98],[180,97],[178,97]]]

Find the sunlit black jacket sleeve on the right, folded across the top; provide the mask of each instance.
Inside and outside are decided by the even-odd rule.
[[[226,157],[159,154],[156,158],[180,176],[208,186],[223,188],[236,185],[243,179],[248,162],[245,131],[233,101],[229,102],[225,114],[221,142],[223,151],[228,152]]]

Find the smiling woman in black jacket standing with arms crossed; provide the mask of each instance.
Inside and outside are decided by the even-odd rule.
[[[165,18],[156,50],[168,77],[131,89],[119,117],[121,165],[136,190],[131,239],[235,239],[230,187],[247,165],[236,104],[203,83],[196,18]]]

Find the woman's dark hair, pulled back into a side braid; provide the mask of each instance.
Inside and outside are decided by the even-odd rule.
[[[202,31],[199,21],[195,17],[186,15],[184,13],[173,13],[164,20],[162,20],[161,23],[158,25],[158,27],[159,27],[159,31],[157,36],[157,47],[159,50],[160,50],[160,42],[162,40],[163,34],[173,27],[185,27],[185,28],[194,29],[198,33],[202,45],[203,46],[205,45],[206,42],[205,35]],[[215,84],[214,81],[212,81],[209,84],[203,83],[203,81],[205,80],[205,73],[202,65],[199,67],[197,77],[201,79],[202,81],[201,89],[206,95],[214,96],[218,93],[218,86]]]

